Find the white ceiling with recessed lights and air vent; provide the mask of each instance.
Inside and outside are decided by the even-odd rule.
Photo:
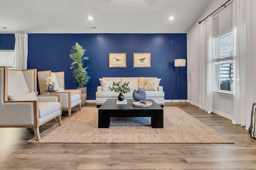
[[[0,33],[187,33],[210,2],[0,0]]]

